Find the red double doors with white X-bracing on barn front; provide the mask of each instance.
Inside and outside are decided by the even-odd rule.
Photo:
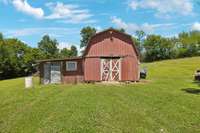
[[[101,59],[101,81],[121,80],[121,59],[102,58]]]

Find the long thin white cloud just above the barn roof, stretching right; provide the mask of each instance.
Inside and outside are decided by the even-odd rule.
[[[152,33],[157,28],[169,28],[175,25],[175,23],[165,23],[165,24],[135,24],[135,23],[126,23],[121,18],[112,17],[111,21],[118,28],[123,28],[129,33],[134,33],[137,30],[143,30],[146,33]]]

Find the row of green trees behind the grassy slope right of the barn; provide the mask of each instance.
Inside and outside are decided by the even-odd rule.
[[[146,35],[143,31],[136,31],[133,40],[143,62],[200,56],[199,31],[182,32],[177,37]]]

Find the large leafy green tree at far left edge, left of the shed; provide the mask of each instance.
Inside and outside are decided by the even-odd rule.
[[[18,39],[4,39],[0,43],[0,79],[25,76],[33,71],[35,59],[31,55],[31,47],[28,47]]]

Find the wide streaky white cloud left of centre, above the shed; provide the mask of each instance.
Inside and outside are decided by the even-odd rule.
[[[51,10],[52,14],[46,16],[46,19],[57,19],[65,23],[92,23],[90,20],[93,16],[89,10],[81,9],[78,5],[57,3],[47,3],[46,6]]]

